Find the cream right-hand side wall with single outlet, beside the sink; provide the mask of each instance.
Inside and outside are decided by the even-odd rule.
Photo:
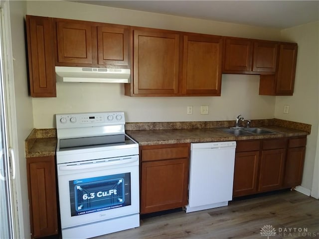
[[[312,124],[307,137],[302,186],[311,189],[318,138],[319,115],[319,22],[282,30],[284,41],[298,43],[295,91],[293,96],[277,96],[275,118]],[[289,105],[289,114],[283,114]],[[315,168],[317,172],[319,168]]]

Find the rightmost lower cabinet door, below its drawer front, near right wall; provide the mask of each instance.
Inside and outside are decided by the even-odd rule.
[[[289,148],[285,167],[285,187],[295,187],[303,179],[306,147]]]

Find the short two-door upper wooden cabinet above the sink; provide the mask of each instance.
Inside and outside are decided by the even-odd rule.
[[[275,73],[277,42],[233,37],[225,37],[224,41],[223,73]]]

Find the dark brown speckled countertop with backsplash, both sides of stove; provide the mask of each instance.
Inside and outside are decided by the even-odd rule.
[[[257,119],[251,121],[252,127],[261,126],[278,133],[233,136],[218,130],[220,127],[234,126],[231,121],[194,122],[141,122],[126,123],[126,133],[140,145],[232,141],[245,139],[279,138],[307,135],[311,125],[282,119]],[[56,129],[33,129],[25,139],[25,157],[55,155]]]

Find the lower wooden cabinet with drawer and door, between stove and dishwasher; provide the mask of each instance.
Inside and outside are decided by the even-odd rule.
[[[141,146],[141,214],[187,205],[189,144]]]

